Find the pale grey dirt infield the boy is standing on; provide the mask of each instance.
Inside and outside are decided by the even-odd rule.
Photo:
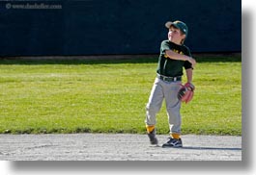
[[[242,137],[185,135],[183,142],[161,148],[146,135],[0,135],[0,161],[242,161]]]

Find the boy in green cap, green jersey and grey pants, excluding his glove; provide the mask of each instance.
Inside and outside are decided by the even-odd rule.
[[[166,22],[169,29],[168,40],[160,45],[160,55],[156,70],[156,80],[146,106],[146,129],[150,142],[157,145],[156,139],[156,113],[160,110],[165,99],[168,114],[170,137],[162,147],[182,147],[181,139],[181,101],[178,91],[181,88],[183,67],[185,67],[187,83],[192,82],[192,71],[195,60],[191,57],[189,49],[184,45],[188,31],[182,21]]]

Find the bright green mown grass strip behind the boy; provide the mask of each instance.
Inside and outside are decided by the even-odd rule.
[[[156,63],[0,60],[0,133],[145,133]],[[183,134],[241,136],[241,58],[198,58],[193,83]],[[164,104],[156,127],[169,131]]]

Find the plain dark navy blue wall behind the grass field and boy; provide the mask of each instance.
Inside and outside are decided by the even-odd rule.
[[[1,1],[0,56],[157,54],[176,19],[192,52],[242,51],[238,0]]]

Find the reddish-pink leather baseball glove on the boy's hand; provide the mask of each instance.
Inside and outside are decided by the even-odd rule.
[[[182,85],[181,89],[178,92],[178,99],[182,102],[188,103],[192,100],[194,95],[195,87],[191,83],[186,83]]]

